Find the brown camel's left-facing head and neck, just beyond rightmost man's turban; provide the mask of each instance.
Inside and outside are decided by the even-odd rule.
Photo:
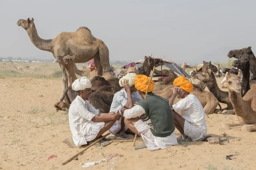
[[[192,78],[199,79],[207,85],[209,91],[218,99],[219,102],[227,104],[226,108],[221,109],[224,110],[233,110],[233,105],[231,103],[229,94],[227,91],[221,91],[216,82],[216,78],[211,71],[208,70],[208,73],[205,72],[192,72]],[[235,114],[234,111],[228,111],[230,114]]]

